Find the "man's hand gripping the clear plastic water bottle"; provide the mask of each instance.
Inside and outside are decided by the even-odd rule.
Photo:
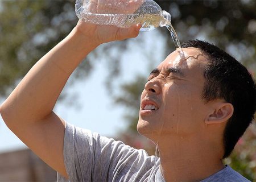
[[[132,14],[145,0],[84,0],[82,6],[88,13],[92,14]],[[118,28],[115,26],[96,25],[79,20],[77,30],[90,39],[96,46],[111,42],[135,38],[139,34],[141,25],[134,24],[129,28]]]

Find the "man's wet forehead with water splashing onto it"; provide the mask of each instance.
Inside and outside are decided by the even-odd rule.
[[[201,49],[188,47],[182,49],[185,58],[181,58],[178,51],[172,52],[159,64],[159,71],[166,71],[168,68],[179,68],[183,73],[203,72],[207,63],[207,56]],[[195,74],[195,73],[193,73]]]

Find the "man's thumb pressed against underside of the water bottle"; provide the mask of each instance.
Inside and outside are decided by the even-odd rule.
[[[133,24],[129,28],[119,28],[117,32],[117,40],[124,40],[128,38],[135,38],[139,35],[139,30],[141,29],[141,24]]]

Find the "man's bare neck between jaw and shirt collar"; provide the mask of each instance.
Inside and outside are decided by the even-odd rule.
[[[201,140],[188,137],[159,143],[166,181],[200,181],[224,168],[220,147]]]

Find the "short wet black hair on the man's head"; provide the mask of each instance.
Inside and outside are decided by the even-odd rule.
[[[254,119],[256,86],[253,77],[234,57],[213,44],[201,40],[189,40],[181,47],[199,48],[208,56],[202,91],[205,103],[223,99],[234,107],[234,113],[226,123],[223,134],[223,159],[227,158]]]

